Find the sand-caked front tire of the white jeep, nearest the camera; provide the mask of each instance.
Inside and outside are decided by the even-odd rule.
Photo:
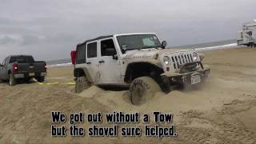
[[[160,90],[160,86],[153,78],[136,78],[130,85],[130,102],[136,106],[142,105],[153,98],[154,94]]]

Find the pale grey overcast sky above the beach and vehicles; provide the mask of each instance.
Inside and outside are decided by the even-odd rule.
[[[0,0],[0,61],[9,54],[70,58],[79,42],[154,32],[168,46],[236,38],[255,0]]]

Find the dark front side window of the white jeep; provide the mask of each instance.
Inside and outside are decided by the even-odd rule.
[[[113,39],[103,40],[101,42],[101,54],[102,56],[113,56],[117,54]]]

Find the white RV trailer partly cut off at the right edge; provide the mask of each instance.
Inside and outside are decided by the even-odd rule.
[[[242,31],[238,32],[237,42],[238,46],[256,47],[256,22],[248,22],[242,25]]]

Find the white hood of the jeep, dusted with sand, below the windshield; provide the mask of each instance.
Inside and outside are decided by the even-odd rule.
[[[142,49],[142,50],[129,50],[123,55],[124,59],[133,58],[156,58],[156,55],[170,54],[175,52],[190,51],[189,49]]]

